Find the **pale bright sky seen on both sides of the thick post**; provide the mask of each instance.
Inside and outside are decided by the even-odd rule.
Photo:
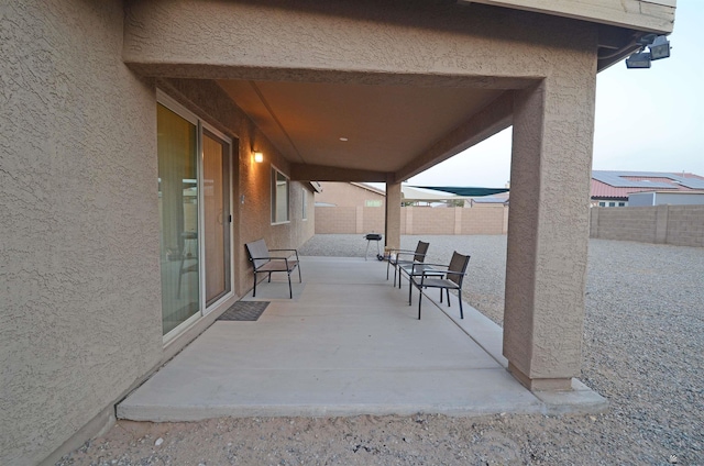
[[[704,176],[703,0],[678,0],[669,40],[670,57],[648,69],[627,69],[619,62],[597,75],[592,169]],[[510,140],[508,127],[408,184],[504,187]]]

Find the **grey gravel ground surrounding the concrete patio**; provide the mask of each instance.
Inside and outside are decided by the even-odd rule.
[[[402,247],[418,240],[428,262],[472,255],[466,299],[501,324],[506,237]],[[365,246],[318,235],[300,253]],[[704,248],[592,240],[586,298],[581,379],[609,399],[604,414],[121,421],[57,465],[704,465]]]

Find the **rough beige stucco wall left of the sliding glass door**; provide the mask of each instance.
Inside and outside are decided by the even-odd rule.
[[[162,356],[155,93],[119,1],[3,2],[0,464],[36,464]]]

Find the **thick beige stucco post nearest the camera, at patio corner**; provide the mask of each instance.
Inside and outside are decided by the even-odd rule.
[[[504,355],[531,390],[580,374],[595,78],[516,91]]]

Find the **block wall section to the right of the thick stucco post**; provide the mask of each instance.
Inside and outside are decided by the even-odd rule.
[[[704,247],[704,206],[592,208],[590,236]]]

